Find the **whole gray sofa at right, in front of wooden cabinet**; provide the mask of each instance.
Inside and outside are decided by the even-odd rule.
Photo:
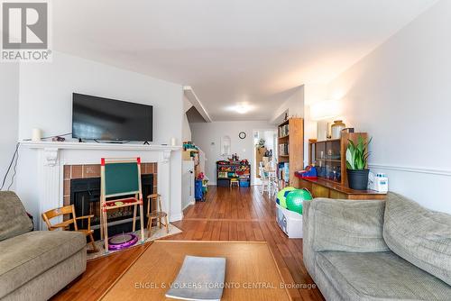
[[[327,300],[451,300],[451,215],[395,194],[303,205],[304,263]]]

